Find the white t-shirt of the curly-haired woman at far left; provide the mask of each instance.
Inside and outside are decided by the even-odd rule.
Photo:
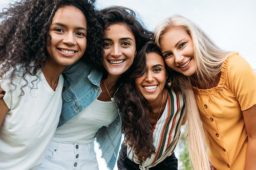
[[[0,81],[6,91],[4,101],[10,109],[0,129],[0,169],[37,169],[45,157],[48,144],[56,131],[62,107],[63,77],[60,75],[54,91],[44,74],[26,75],[28,85],[20,95],[22,78],[16,77],[13,86]]]

